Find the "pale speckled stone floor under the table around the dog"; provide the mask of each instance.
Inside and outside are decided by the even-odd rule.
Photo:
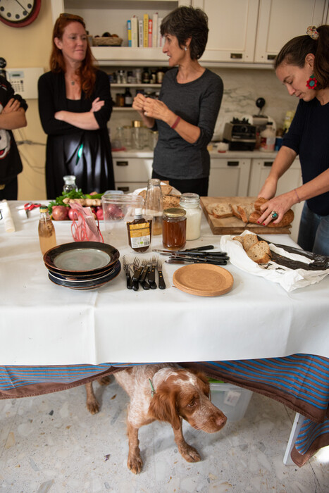
[[[139,432],[142,473],[126,466],[128,397],[116,382],[94,383],[101,411],[85,407],[85,387],[0,401],[0,492],[4,493],[324,493],[328,451],[302,468],[284,466],[294,413],[253,394],[247,413],[213,435],[185,423],[187,442],[203,460],[187,463],[170,425]],[[327,454],[325,462],[325,453]]]

